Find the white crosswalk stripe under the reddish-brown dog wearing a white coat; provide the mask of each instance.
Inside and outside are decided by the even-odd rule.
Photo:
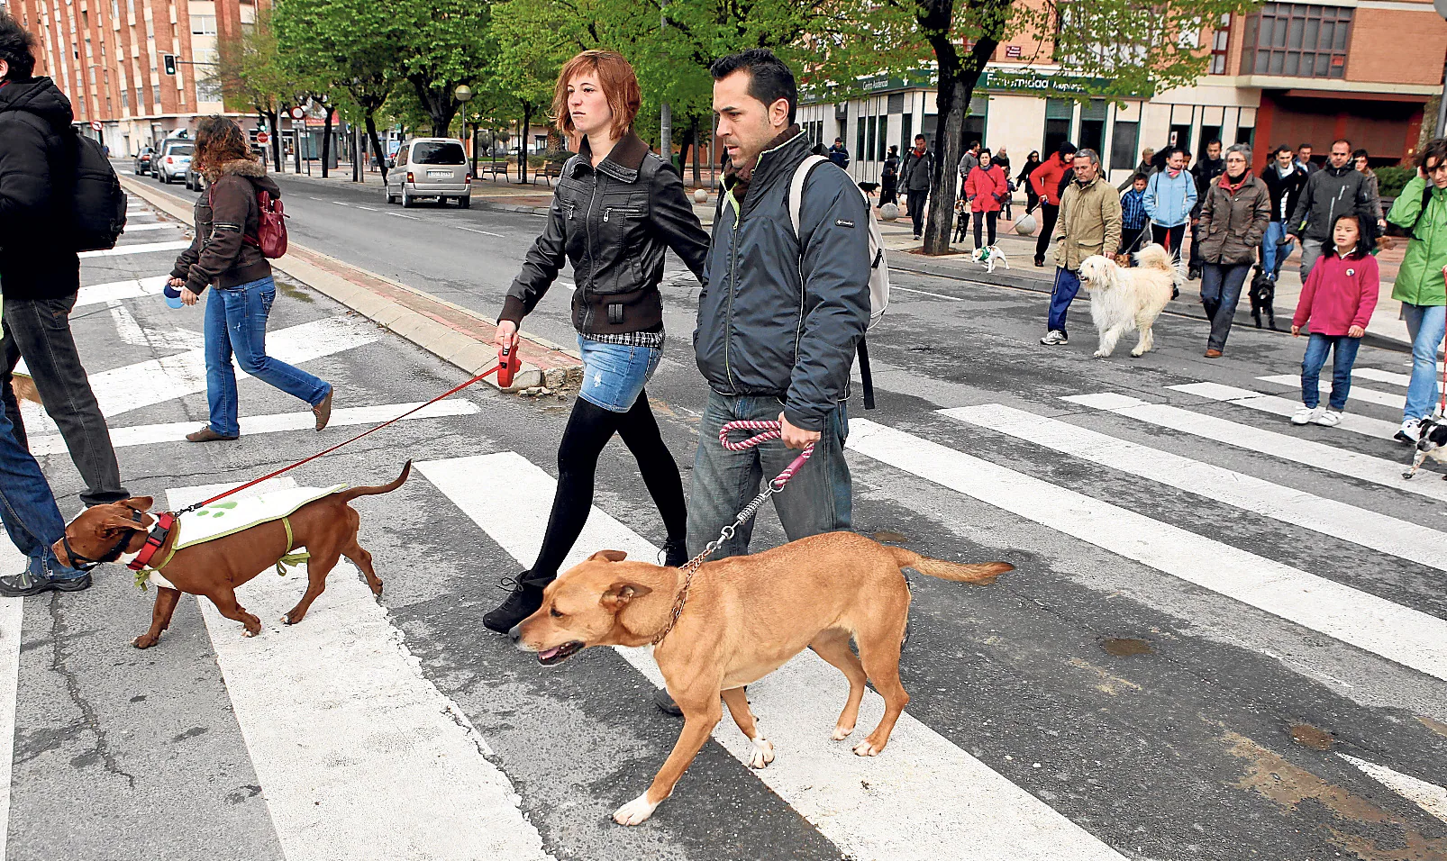
[[[172,488],[166,501],[229,486]],[[486,741],[423,676],[356,567],[331,570],[301,624],[278,622],[302,572],[242,588],[260,637],[198,599],[287,861],[551,858]]]

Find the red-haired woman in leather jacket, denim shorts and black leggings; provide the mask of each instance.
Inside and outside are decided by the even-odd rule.
[[[577,541],[593,505],[593,473],[616,433],[638,459],[669,538],[664,564],[687,561],[683,480],[644,383],[663,355],[663,258],[673,249],[699,275],[709,236],[699,224],[671,165],[632,132],[641,94],[632,67],[609,51],[570,59],[553,96],[563,135],[582,137],[563,165],[543,236],[528,250],[498,320],[498,346],[517,349],[518,323],[572,262],[577,289],[573,326],[583,356],[583,388],[557,451],[557,492],[543,548],[532,569],[504,579],[512,593],[483,616],[499,632],[532,615],[543,588]],[[702,281],[702,279],[700,279]]]

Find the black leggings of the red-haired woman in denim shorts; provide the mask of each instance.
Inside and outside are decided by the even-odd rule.
[[[687,534],[687,504],[683,499],[683,479],[679,465],[663,443],[658,423],[648,407],[648,392],[640,392],[628,412],[614,412],[579,398],[563,431],[563,444],[557,449],[557,493],[553,496],[553,514],[543,535],[543,548],[532,564],[531,577],[546,580],[557,576],[577,535],[587,522],[593,506],[593,478],[598,472],[598,456],[614,437],[638,460],[642,483],[648,488],[670,541],[682,546]],[[651,561],[651,560],[650,560]]]

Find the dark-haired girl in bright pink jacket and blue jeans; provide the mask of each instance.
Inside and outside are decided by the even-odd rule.
[[[1302,408],[1291,417],[1291,423],[1336,427],[1347,405],[1357,347],[1362,346],[1366,324],[1376,310],[1379,282],[1372,243],[1357,216],[1337,216],[1331,224],[1330,245],[1324,245],[1321,252],[1301,288],[1297,314],[1291,318],[1292,337],[1299,337],[1302,327],[1311,321],[1311,340],[1307,342],[1307,356],[1301,360]],[[1323,410],[1318,379],[1321,366],[1327,362],[1327,350],[1334,353],[1334,360],[1330,407]]]

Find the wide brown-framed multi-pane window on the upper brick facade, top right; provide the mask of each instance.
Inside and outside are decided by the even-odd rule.
[[[1341,78],[1346,75],[1351,9],[1266,3],[1246,19],[1243,75]]]

